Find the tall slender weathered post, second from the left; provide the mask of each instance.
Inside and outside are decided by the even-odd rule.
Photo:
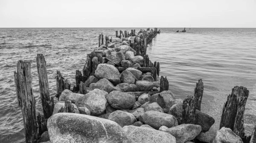
[[[54,101],[51,100],[51,97],[49,94],[46,62],[43,54],[37,54],[36,63],[37,63],[38,80],[39,80],[40,95],[41,95],[42,107],[44,112],[44,118],[47,120],[52,115],[53,108],[54,108]]]

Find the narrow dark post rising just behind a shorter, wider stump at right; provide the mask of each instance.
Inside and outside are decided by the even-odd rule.
[[[194,90],[194,97],[196,99],[195,109],[198,109],[199,111],[201,110],[203,93],[204,93],[204,83],[202,79],[199,79],[198,83],[196,83],[196,87]]]

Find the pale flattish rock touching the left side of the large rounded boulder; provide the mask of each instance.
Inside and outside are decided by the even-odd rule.
[[[72,103],[76,103],[79,98],[83,97],[84,94],[79,94],[79,93],[73,93],[70,90],[63,90],[59,101],[71,101]]]

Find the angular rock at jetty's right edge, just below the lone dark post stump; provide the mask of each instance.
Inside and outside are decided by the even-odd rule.
[[[170,90],[168,90],[152,95],[150,98],[150,103],[157,102],[157,104],[159,104],[160,107],[163,108],[163,112],[167,113],[172,107],[172,100],[174,99],[175,96]]]

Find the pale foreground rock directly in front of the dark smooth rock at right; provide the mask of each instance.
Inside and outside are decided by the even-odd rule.
[[[165,132],[173,135],[176,138],[176,143],[184,143],[193,140],[201,132],[201,126],[194,124],[181,124],[172,128],[166,129]]]

